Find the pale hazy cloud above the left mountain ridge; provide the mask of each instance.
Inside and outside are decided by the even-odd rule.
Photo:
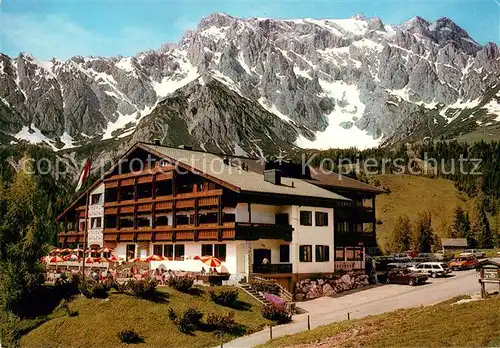
[[[67,59],[74,55],[135,55],[159,47],[163,41],[145,27],[128,26],[103,35],[73,23],[60,14],[3,14],[2,46],[11,55],[29,52],[41,59]]]

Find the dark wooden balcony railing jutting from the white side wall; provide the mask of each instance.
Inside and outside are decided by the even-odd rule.
[[[293,227],[290,225],[236,223],[236,239],[238,240],[281,239],[290,242],[292,232]]]

